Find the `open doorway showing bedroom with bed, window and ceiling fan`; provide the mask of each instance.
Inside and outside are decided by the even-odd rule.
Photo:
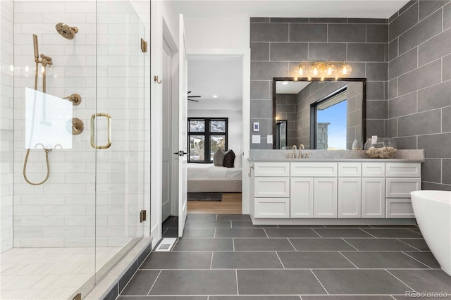
[[[242,214],[242,68],[240,56],[188,56],[188,213]]]

